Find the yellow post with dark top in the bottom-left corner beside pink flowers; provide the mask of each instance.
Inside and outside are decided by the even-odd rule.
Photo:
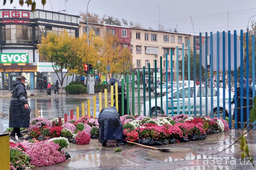
[[[10,169],[9,133],[0,133],[0,165],[2,170]]]

